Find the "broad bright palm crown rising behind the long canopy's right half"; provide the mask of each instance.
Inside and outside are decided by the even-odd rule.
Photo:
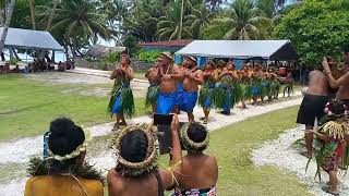
[[[272,20],[263,16],[251,0],[236,0],[229,16],[213,22],[231,26],[225,34],[227,39],[258,39],[262,37],[261,30],[272,24]]]

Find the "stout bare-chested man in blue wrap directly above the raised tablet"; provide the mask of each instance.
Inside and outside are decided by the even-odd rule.
[[[156,112],[169,114],[177,111],[177,82],[183,78],[178,65],[173,64],[171,53],[163,52],[159,59],[160,91],[156,101]]]

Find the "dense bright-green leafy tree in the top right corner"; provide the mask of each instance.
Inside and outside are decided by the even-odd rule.
[[[349,40],[346,0],[306,0],[282,17],[274,35],[292,41],[301,63],[321,65],[324,56],[340,56],[341,46]]]

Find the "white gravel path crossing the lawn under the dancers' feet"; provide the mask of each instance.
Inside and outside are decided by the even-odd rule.
[[[210,114],[209,122],[207,124],[207,128],[209,131],[215,131],[217,128],[224,127],[228,124],[232,124],[239,121],[243,121],[248,118],[255,117],[258,114],[263,114],[269,111],[297,106],[300,105],[301,98],[291,99],[287,101],[281,101],[277,103],[270,103],[266,106],[258,107],[249,107],[249,109],[240,110],[238,108],[232,110],[232,115],[227,117],[213,111]],[[197,118],[202,117],[202,109],[195,108],[194,114]],[[219,120],[218,120],[219,119]],[[129,123],[142,123],[149,122],[151,118],[147,115],[135,118]],[[180,121],[186,121],[186,115],[182,112],[180,114]],[[109,134],[112,128],[112,123],[100,124],[97,126],[91,127],[91,133],[93,137],[100,137]],[[96,164],[96,167],[104,172],[108,169],[115,167],[115,157],[112,151],[106,148],[107,145],[104,145],[105,150],[98,150],[98,156],[92,157],[87,151],[87,161]],[[15,147],[14,147],[15,146]],[[28,148],[29,147],[29,150]],[[16,149],[13,151],[12,149]],[[11,152],[10,149],[12,150]],[[28,158],[32,156],[40,155],[43,149],[43,140],[41,137],[26,137],[17,140],[9,142],[9,143],[0,143],[0,157],[7,157],[7,159],[1,159],[0,164],[11,164],[14,162],[23,162],[27,163]],[[100,149],[100,148],[98,148]],[[13,180],[5,182],[1,182],[0,180],[0,189],[5,191],[4,193],[11,193],[10,195],[23,195],[23,188],[25,184],[25,173],[22,173],[21,176],[15,176]],[[7,195],[7,194],[4,194]]]

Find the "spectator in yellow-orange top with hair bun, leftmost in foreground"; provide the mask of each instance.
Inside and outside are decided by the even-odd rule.
[[[24,196],[103,196],[100,173],[84,162],[86,135],[70,119],[56,119],[50,124],[50,157],[34,158],[27,169]]]

